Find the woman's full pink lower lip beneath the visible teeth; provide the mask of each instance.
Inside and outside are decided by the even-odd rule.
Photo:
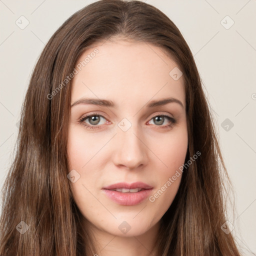
[[[138,192],[118,192],[108,189],[103,189],[105,194],[114,202],[121,205],[136,205],[146,199],[152,191],[152,188],[141,190]]]

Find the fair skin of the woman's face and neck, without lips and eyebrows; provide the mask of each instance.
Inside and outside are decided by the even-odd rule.
[[[188,138],[183,76],[174,80],[169,75],[177,64],[161,48],[122,38],[94,45],[78,62],[95,47],[99,52],[73,78],[71,105],[93,97],[117,106],[71,107],[67,153],[70,170],[80,175],[71,183],[72,196],[85,217],[84,225],[96,237],[100,256],[142,256],[150,251],[154,255],[159,220],[174,199],[181,175],[155,201],[146,198],[132,206],[117,204],[101,188],[142,181],[153,187],[150,195],[154,195],[184,163]],[[166,97],[180,100],[183,107],[176,102],[145,106]],[[79,122],[92,112],[103,116],[97,116],[98,123],[89,118]],[[161,123],[154,114],[167,114],[176,123],[168,127],[168,118]],[[127,131],[118,126],[123,118],[131,124]],[[88,129],[83,123],[100,128]],[[118,228],[123,221],[131,227],[126,233]]]

